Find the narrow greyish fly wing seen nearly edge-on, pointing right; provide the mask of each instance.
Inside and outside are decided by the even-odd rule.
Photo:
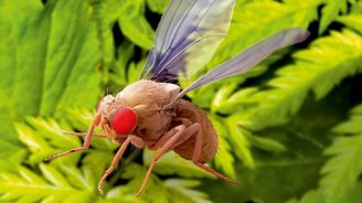
[[[256,64],[265,60],[275,51],[305,41],[309,36],[309,32],[300,29],[287,29],[248,47],[245,52],[237,54],[235,57],[216,66],[205,75],[201,76],[188,88],[180,93],[185,93],[199,88],[209,83],[245,73],[253,68]]]

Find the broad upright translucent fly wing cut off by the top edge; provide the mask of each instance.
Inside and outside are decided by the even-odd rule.
[[[226,35],[234,6],[235,0],[172,0],[140,77],[168,81],[195,73]]]

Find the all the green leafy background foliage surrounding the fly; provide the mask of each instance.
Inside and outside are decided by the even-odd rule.
[[[219,133],[211,165],[239,186],[170,152],[135,199],[155,153],[131,150],[102,196],[117,149],[102,138],[43,162],[82,143],[62,129],[85,131],[106,88],[138,79],[168,2],[0,0],[0,202],[361,202],[360,0],[237,0],[205,71],[285,28],[311,31],[249,73],[188,95]]]

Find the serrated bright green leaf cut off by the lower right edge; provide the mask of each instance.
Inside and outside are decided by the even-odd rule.
[[[353,136],[337,138],[333,145],[326,150],[326,154],[333,156],[321,170],[324,177],[320,181],[319,190],[324,193],[327,202],[339,202],[362,174],[360,159],[362,153],[361,109],[362,105],[358,106],[350,120],[334,128],[339,133],[352,133]],[[355,125],[356,122],[360,125]]]

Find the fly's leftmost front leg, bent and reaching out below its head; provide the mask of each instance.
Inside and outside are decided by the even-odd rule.
[[[60,158],[60,157],[63,157],[63,156],[66,156],[68,153],[73,153],[73,152],[79,152],[79,151],[83,151],[85,149],[88,149],[89,146],[91,146],[91,140],[92,140],[92,136],[93,136],[93,131],[94,131],[94,128],[96,126],[98,126],[100,122],[100,115],[96,115],[94,120],[93,120],[93,124],[91,125],[88,131],[87,131],[87,135],[85,136],[85,139],[84,139],[84,142],[83,142],[83,146],[82,147],[77,147],[77,148],[74,148],[74,149],[71,149],[68,151],[64,151],[62,153],[58,153],[58,154],[55,154],[55,156],[52,156],[47,159],[45,159],[46,162],[49,161],[52,161],[53,159],[56,159],[56,158]]]

